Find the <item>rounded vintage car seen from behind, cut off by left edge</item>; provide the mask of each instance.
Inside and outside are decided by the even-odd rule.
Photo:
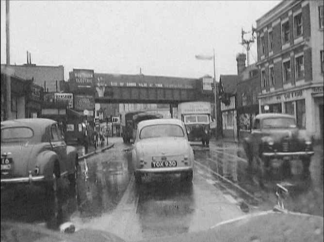
[[[1,122],[1,188],[13,184],[57,190],[57,179],[67,176],[75,185],[78,153],[66,146],[56,121],[18,119]]]

